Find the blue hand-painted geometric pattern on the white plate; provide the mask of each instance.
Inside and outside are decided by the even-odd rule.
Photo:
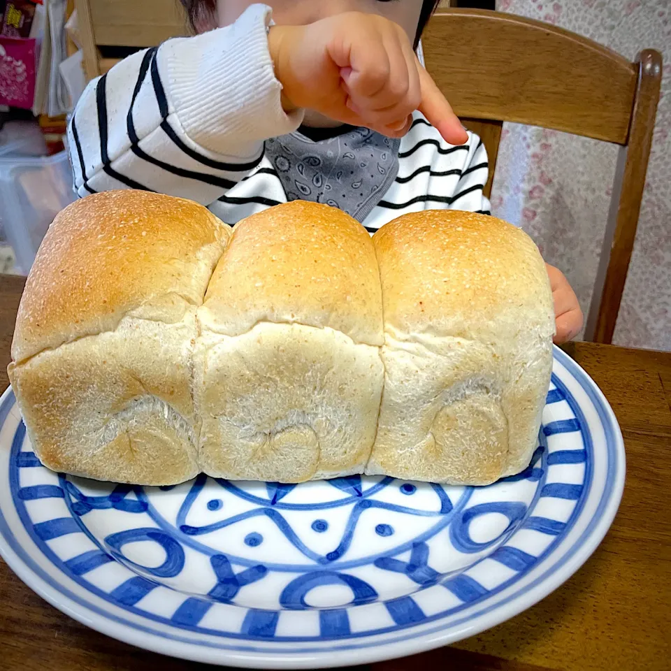
[[[561,383],[558,386],[557,382],[554,380],[555,388],[551,391],[550,400],[555,403],[567,400],[570,404],[561,389]],[[139,602],[161,584],[170,585],[167,581],[162,583],[161,579],[180,575],[186,570],[187,556],[197,553],[206,556],[210,564],[210,575],[205,570],[201,576],[205,587],[198,596],[185,596],[169,617],[166,614],[161,618],[156,613],[145,611],[143,614],[150,616],[150,619],[163,619],[177,626],[196,628],[212,605],[218,602],[245,607],[249,605],[243,599],[245,590],[264,579],[268,582],[270,573],[280,572],[287,575],[284,579],[275,579],[273,582],[273,586],[278,582],[282,585],[282,589],[275,595],[277,603],[259,603],[257,607],[250,607],[240,626],[240,634],[245,637],[273,637],[278,635],[277,611],[316,609],[319,628],[315,628],[313,634],[305,639],[343,637],[353,635],[347,613],[347,609],[352,606],[382,601],[393,621],[392,626],[385,628],[387,630],[402,628],[426,619],[421,607],[413,599],[413,593],[428,586],[440,584],[461,601],[452,606],[452,612],[486,597],[492,589],[486,588],[468,574],[468,568],[477,565],[477,561],[468,557],[466,570],[441,570],[449,564],[445,561],[448,552],[451,557],[462,553],[479,559],[480,554],[497,546],[495,551],[489,553],[490,559],[502,563],[518,574],[529,570],[536,557],[518,547],[507,546],[505,540],[512,531],[519,527],[524,528],[527,524],[529,528],[551,537],[561,535],[565,523],[544,517],[531,517],[528,510],[533,510],[537,499],[543,496],[572,500],[575,507],[579,504],[585,486],[589,486],[589,470],[584,468],[589,463],[589,438],[583,436],[582,449],[561,450],[551,455],[548,455],[546,441],[548,435],[579,431],[579,419],[575,416],[543,426],[540,445],[531,465],[520,475],[503,481],[528,482],[530,486],[526,488],[526,493],[531,494],[528,500],[494,500],[475,505],[469,505],[473,493],[477,491],[472,487],[414,484],[391,477],[352,476],[334,479],[326,481],[331,487],[331,491],[326,492],[323,491],[323,486],[319,486],[322,483],[318,483],[322,500],[317,503],[312,500],[310,493],[305,493],[300,498],[295,496],[298,493],[296,490],[317,489],[312,483],[236,484],[217,480],[216,484],[210,481],[209,486],[206,486],[208,477],[200,475],[186,486],[180,486],[185,496],[180,497],[182,503],[173,518],[169,519],[164,515],[161,506],[152,503],[152,496],[147,495],[147,491],[151,492],[152,488],[117,485],[110,493],[91,495],[85,492],[97,489],[96,484],[76,478],[68,479],[64,475],[59,476],[57,485],[20,486],[20,470],[42,468],[33,452],[27,451],[27,447],[20,450],[24,445],[23,424],[17,428],[15,434],[14,468],[10,472],[10,482],[17,510],[23,513],[27,529],[41,543],[45,554],[51,552],[49,540],[65,535],[83,533],[96,544],[96,549],[87,550],[62,562],[64,572],[85,581],[89,572],[113,560],[129,568],[127,579],[108,592],[108,599],[116,605],[143,610]],[[579,468],[584,474],[582,482],[545,484],[547,472],[553,466],[564,464]],[[104,484],[99,489],[107,487]],[[178,488],[161,489],[171,491]],[[324,496],[324,493],[332,496]],[[420,495],[420,505],[413,506],[413,500]],[[52,519],[33,524],[25,502],[46,498],[64,500],[69,514],[59,514]],[[160,496],[156,497],[156,503],[161,503]],[[194,509],[197,510],[196,515],[192,514]],[[57,512],[58,509],[54,507],[53,510]],[[114,510],[117,514],[123,512],[136,519],[125,522],[122,531],[99,539],[96,537],[97,525],[89,528],[87,516],[94,511],[100,514],[109,510]],[[232,514],[226,514],[227,510],[231,510]],[[346,517],[342,510],[346,511]],[[329,513],[333,511],[336,513],[331,514],[334,521],[329,523]],[[370,516],[371,512],[379,514],[373,517]],[[373,517],[372,521],[366,519],[367,514],[368,517]],[[473,522],[481,516],[491,514],[505,517],[507,523],[503,528],[497,529],[495,537],[484,541],[474,540],[470,533]],[[192,517],[202,521],[203,516],[206,516],[205,524],[189,524]],[[407,519],[403,519],[404,517]],[[341,519],[345,519],[345,524],[339,525],[342,528],[336,528]],[[312,538],[310,534],[316,536],[314,526],[319,521],[324,525],[324,531],[317,532],[319,537]],[[392,521],[393,524],[390,524]],[[254,524],[250,525],[250,522]],[[375,534],[380,540],[373,544],[364,540],[361,550],[354,551],[352,540],[360,525],[365,525],[365,528],[359,533],[369,537]],[[233,543],[229,533],[236,533],[236,526],[242,526],[243,531],[236,534],[238,542]],[[405,534],[401,542],[398,542],[396,537],[401,526],[406,527]],[[225,535],[217,534],[224,529],[230,529],[230,532]],[[250,529],[262,530],[262,533],[248,531]],[[447,533],[441,534],[445,531]],[[329,532],[330,543],[327,540]],[[139,542],[159,546],[164,552],[164,561],[155,566],[140,565],[124,554],[127,544]],[[384,544],[380,549],[382,542]],[[452,545],[451,548],[448,542]],[[264,544],[268,551],[261,554]],[[282,545],[279,553],[278,545]],[[229,550],[231,547],[235,549]],[[273,561],[277,554],[286,556],[287,547],[295,549],[290,555],[295,561]],[[432,558],[432,551],[434,555],[440,556]],[[410,555],[404,557],[408,552]],[[55,553],[53,561],[60,561]],[[353,568],[363,568],[365,572],[359,574],[363,577],[347,572]],[[412,589],[400,597],[384,598],[387,572],[405,575],[414,583]],[[452,573],[456,575],[451,575]],[[89,584],[95,588],[96,582]],[[349,594],[345,591],[348,598],[344,603],[319,609],[306,600],[316,588],[331,585],[343,586],[349,590]],[[497,585],[493,589],[500,587],[501,585]],[[250,597],[249,601],[254,603],[254,598]],[[208,633],[224,634],[209,629]],[[371,632],[367,630],[365,633]],[[226,635],[230,634],[231,632],[226,632]],[[298,635],[289,637],[293,641],[303,638]]]

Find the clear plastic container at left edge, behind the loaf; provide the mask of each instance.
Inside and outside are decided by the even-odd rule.
[[[28,274],[54,217],[75,200],[68,152],[50,157],[0,155],[0,226]]]

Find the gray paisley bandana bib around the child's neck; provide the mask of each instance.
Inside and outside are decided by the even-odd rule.
[[[266,140],[287,201],[340,208],[363,222],[396,179],[401,140],[367,128],[315,142],[300,132]]]

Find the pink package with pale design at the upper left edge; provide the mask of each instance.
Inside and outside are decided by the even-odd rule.
[[[0,36],[0,105],[30,109],[35,75],[35,40]]]

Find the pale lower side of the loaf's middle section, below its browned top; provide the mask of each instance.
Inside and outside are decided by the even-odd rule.
[[[330,327],[262,322],[196,344],[201,468],[212,477],[304,482],[362,473],[375,440],[377,347]]]

